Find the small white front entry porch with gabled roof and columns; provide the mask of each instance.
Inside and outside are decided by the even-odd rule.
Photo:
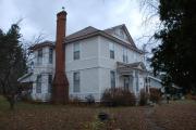
[[[120,87],[130,90],[136,95],[139,94],[142,89],[148,92],[149,88],[145,82],[147,70],[142,62],[131,64],[118,62],[117,73]]]

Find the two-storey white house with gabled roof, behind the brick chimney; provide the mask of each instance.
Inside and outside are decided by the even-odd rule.
[[[64,49],[70,98],[85,100],[91,94],[100,101],[108,88],[122,87],[138,95],[146,87],[144,53],[124,24],[105,30],[86,27],[65,37]],[[19,81],[32,82],[34,100],[49,101],[56,73],[56,42],[44,41],[30,50],[30,69]]]

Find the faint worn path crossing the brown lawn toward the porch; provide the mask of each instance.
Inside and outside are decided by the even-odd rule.
[[[158,126],[152,119],[151,115],[154,114],[154,112],[155,112],[155,107],[145,108],[145,117],[146,117],[145,120],[147,122],[148,130],[166,130],[166,128]]]

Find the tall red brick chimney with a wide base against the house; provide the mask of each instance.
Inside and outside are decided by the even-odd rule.
[[[52,102],[57,104],[69,102],[69,81],[65,75],[65,29],[66,12],[61,11],[57,14],[56,74],[52,90]]]

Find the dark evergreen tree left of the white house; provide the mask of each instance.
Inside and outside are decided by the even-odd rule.
[[[0,29],[0,93],[14,106],[21,77],[26,70],[26,56],[20,41],[20,27],[13,24],[4,34]]]

